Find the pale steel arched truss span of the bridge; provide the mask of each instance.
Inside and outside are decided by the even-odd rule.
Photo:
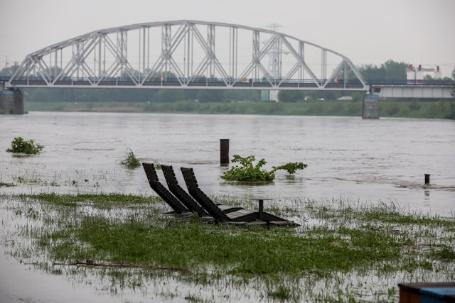
[[[368,90],[336,51],[269,29],[188,20],[55,43],[27,55],[8,86]]]

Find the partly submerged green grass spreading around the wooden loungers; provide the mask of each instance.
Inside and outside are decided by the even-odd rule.
[[[226,283],[234,292],[255,292],[254,301],[298,302],[303,296],[310,302],[394,301],[396,284],[404,281],[387,282],[390,277],[455,278],[454,218],[406,213],[393,204],[296,200],[273,208],[302,226],[267,230],[164,215],[166,207],[156,197],[22,194],[0,201],[11,199],[17,203],[9,209],[27,219],[16,236],[32,243],[16,245],[16,258],[42,255],[44,264],[92,258],[186,270],[191,273],[154,275],[211,291],[166,294],[191,302],[218,301],[214,287],[224,289]],[[121,285],[132,279],[122,270],[109,275]],[[134,274],[135,285],[144,283],[136,275],[149,277],[144,271]]]

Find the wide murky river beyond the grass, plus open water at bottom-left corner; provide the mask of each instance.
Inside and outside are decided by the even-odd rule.
[[[0,116],[0,131],[0,182],[15,185],[0,187],[2,194],[154,194],[141,167],[131,170],[119,163],[131,148],[141,161],[193,167],[209,195],[392,202],[441,216],[454,216],[455,211],[454,121],[31,112]],[[43,153],[29,157],[6,153],[17,136],[45,145]],[[231,158],[235,154],[265,158],[266,169],[297,161],[308,167],[292,176],[279,171],[269,184],[225,182],[220,178],[228,169],[220,167],[220,139],[225,138],[230,139]],[[424,185],[424,174],[431,174],[429,185]],[[161,172],[159,177],[164,180]],[[8,220],[6,212],[0,214]],[[29,302],[61,302],[68,294],[74,297],[69,302],[81,298],[87,302],[90,287],[65,284],[50,295],[48,289],[59,277],[33,267],[18,270],[17,260],[5,251],[0,250],[0,302],[31,297],[35,299]]]

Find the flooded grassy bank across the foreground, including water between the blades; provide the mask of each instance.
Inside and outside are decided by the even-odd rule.
[[[454,279],[454,219],[287,203],[273,209],[301,224],[292,231],[191,223],[135,196],[2,195],[1,302],[392,302],[398,282]],[[117,250],[125,262],[109,261]]]

